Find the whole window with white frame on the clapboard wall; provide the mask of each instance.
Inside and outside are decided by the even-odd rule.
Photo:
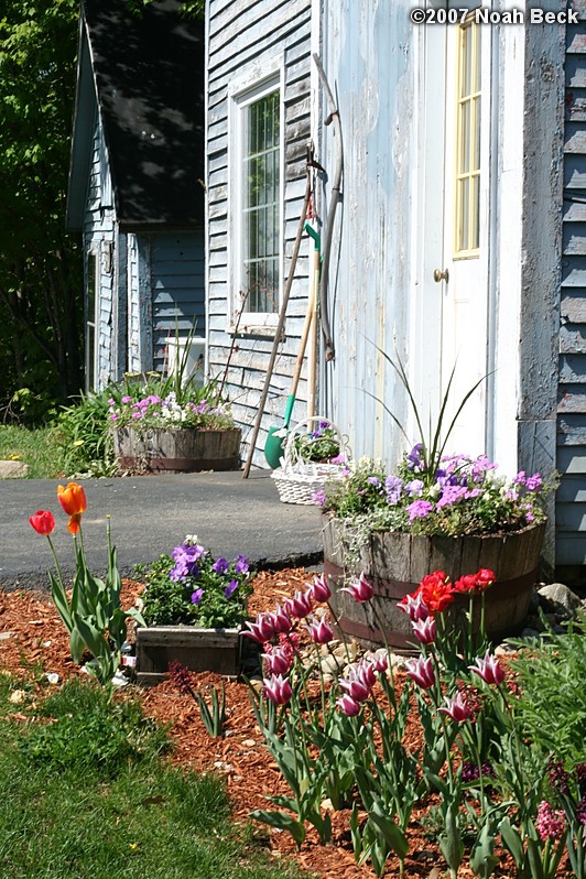
[[[230,89],[230,307],[234,326],[276,325],[283,265],[283,109],[281,61]]]

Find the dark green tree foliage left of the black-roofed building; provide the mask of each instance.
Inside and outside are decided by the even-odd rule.
[[[79,242],[65,229],[77,0],[0,0],[0,408],[82,384]]]

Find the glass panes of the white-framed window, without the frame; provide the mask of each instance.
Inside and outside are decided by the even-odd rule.
[[[279,310],[281,229],[280,91],[242,108],[242,276],[246,311]]]

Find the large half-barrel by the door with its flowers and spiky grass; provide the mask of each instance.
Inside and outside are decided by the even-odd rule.
[[[337,589],[339,626],[360,640],[387,640],[406,650],[410,631],[398,603],[430,571],[456,580],[468,571],[489,568],[496,582],[487,594],[486,627],[490,637],[500,638],[527,616],[545,529],[543,500],[555,479],[544,485],[540,474],[525,473],[507,479],[485,455],[446,454],[451,428],[443,438],[442,419],[451,382],[426,441],[405,371],[391,362],[408,390],[420,442],[393,473],[381,462],[362,458],[314,495],[326,514],[326,572],[338,586],[365,572],[376,592],[366,609]],[[477,387],[460,403],[451,427]]]

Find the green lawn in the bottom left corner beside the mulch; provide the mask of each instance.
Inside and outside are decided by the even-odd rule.
[[[161,730],[142,717],[139,703],[124,708],[117,697],[112,707],[90,682],[74,682],[44,705],[33,704],[39,696],[32,692],[14,705],[10,692],[20,686],[0,676],[1,876],[300,877],[294,865],[271,864],[251,832],[235,827],[220,779],[161,759]],[[11,719],[15,712],[35,719]],[[109,719],[100,725],[96,718],[105,714]],[[74,736],[78,741],[66,744]],[[133,741],[123,747],[129,736]]]

